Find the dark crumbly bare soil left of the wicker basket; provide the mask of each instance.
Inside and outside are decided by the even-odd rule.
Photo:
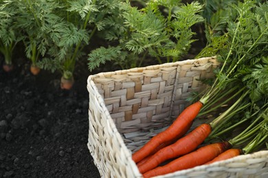
[[[100,177],[87,149],[87,67],[69,91],[60,74],[29,68],[0,68],[0,177]]]

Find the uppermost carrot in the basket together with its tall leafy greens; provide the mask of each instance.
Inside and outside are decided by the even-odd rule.
[[[147,142],[142,149],[133,153],[135,162],[139,162],[150,155],[150,151],[159,144],[175,138],[180,131],[169,132],[170,128],[181,128],[181,125],[185,125],[185,123],[190,124],[198,113],[199,116],[210,113],[220,105],[226,104],[227,101],[232,101],[232,99],[238,99],[238,101],[233,105],[230,104],[230,110],[226,112],[227,114],[236,114],[236,110],[233,110],[233,108],[236,107],[237,103],[241,107],[249,104],[258,105],[258,107],[265,105],[268,93],[268,63],[267,57],[265,57],[268,27],[267,18],[260,17],[267,16],[267,11],[265,11],[267,6],[267,3],[257,5],[254,1],[245,1],[234,6],[237,11],[236,20],[227,22],[227,32],[222,37],[226,43],[225,48],[219,49],[215,53],[223,66],[216,71],[216,79],[208,91],[202,94],[203,96],[199,101],[189,106],[192,113],[195,114],[190,116],[187,111],[189,107],[186,108],[166,131],[159,133]],[[211,49],[210,45],[208,44],[208,47],[202,53],[205,50],[209,51]],[[211,53],[211,51],[209,52]],[[230,94],[232,97],[224,98]],[[248,101],[247,98],[249,98]],[[210,108],[218,101],[222,101],[219,106]],[[245,101],[247,102],[245,103]],[[199,105],[199,107],[196,107],[196,105]],[[230,126],[230,123],[225,122],[223,116],[225,115],[219,116],[210,124],[212,128],[215,125]],[[239,120],[233,121],[238,122]]]

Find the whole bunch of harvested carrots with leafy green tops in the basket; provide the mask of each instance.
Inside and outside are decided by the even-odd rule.
[[[258,36],[249,39],[251,45],[248,47],[245,44],[249,42],[239,40],[239,36],[248,33],[243,31],[243,15],[240,14],[237,23],[230,26],[229,51],[221,55],[223,65],[216,71],[212,86],[198,101],[186,107],[165,131],[133,153],[133,161],[144,177],[211,164],[263,149],[265,143],[268,145],[268,58],[262,51],[268,45],[265,40],[268,27],[260,28]],[[226,96],[230,97],[225,99]],[[194,118],[226,103],[230,104],[227,110],[212,122],[189,131]],[[232,136],[235,129],[241,133]],[[225,141],[214,142],[217,138]],[[168,164],[164,164],[166,162]]]

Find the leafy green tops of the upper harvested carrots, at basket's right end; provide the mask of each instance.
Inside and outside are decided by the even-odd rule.
[[[268,3],[248,0],[230,8],[236,11],[236,18],[225,18],[226,32],[220,38],[210,38],[212,41],[201,51],[201,55],[217,55],[222,66],[215,71],[216,80],[202,97],[206,105],[199,116],[231,103],[229,112],[219,118],[229,117],[232,123],[214,120],[221,129],[214,129],[212,136],[218,136],[216,132],[223,127],[242,122],[243,113],[247,118],[254,114],[254,108],[266,108],[268,101]],[[215,105],[218,101],[222,102]]]

